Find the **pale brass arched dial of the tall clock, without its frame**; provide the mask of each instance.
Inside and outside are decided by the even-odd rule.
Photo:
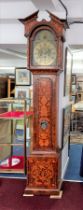
[[[33,64],[38,66],[56,65],[56,42],[51,32],[42,30],[33,45]]]

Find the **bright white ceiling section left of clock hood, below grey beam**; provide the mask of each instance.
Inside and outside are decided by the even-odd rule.
[[[26,44],[26,42],[22,23],[9,20],[0,24],[0,44]]]

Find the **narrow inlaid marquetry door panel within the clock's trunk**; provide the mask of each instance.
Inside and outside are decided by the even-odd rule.
[[[52,95],[52,88],[51,88],[51,80],[50,79],[42,79],[39,80],[39,123],[38,123],[38,130],[39,130],[39,145],[40,147],[48,147],[51,140],[51,95]],[[46,87],[47,90],[46,91]],[[42,91],[41,91],[42,90]]]

